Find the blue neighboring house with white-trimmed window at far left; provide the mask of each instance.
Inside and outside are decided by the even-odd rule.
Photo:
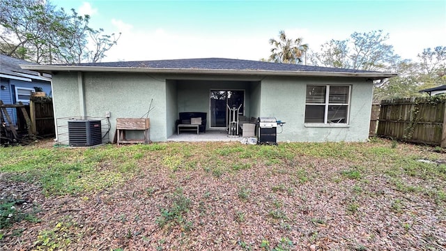
[[[5,105],[13,105],[22,101],[29,104],[31,93],[40,87],[51,96],[51,75],[41,75],[32,70],[24,70],[19,65],[38,65],[21,59],[0,54],[0,100]],[[13,123],[17,123],[17,113],[15,109],[8,108]]]

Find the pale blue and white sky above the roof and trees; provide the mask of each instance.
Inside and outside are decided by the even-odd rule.
[[[446,46],[446,0],[420,1],[120,1],[52,0],[91,16],[91,26],[120,33],[102,61],[222,57],[268,58],[280,30],[318,51],[353,32],[383,30],[394,52],[417,60]]]

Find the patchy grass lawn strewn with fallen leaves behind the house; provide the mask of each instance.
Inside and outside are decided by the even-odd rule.
[[[0,250],[445,250],[441,149],[0,148]]]

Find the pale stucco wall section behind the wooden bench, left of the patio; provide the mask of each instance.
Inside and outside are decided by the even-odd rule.
[[[110,112],[110,140],[114,137],[117,118],[141,118],[148,112],[151,120],[150,138],[154,142],[166,137],[166,89],[164,78],[144,74],[84,73],[86,116],[104,117]],[[134,134],[141,133],[135,132]],[[137,135],[128,133],[128,138]]]

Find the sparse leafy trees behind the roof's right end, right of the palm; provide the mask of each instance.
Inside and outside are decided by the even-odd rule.
[[[399,73],[397,77],[374,82],[374,101],[421,96],[418,91],[446,84],[446,47],[426,48],[419,62],[401,59],[386,42],[383,31],[351,34],[346,40],[330,40],[319,52],[310,54],[315,66],[379,70]]]

